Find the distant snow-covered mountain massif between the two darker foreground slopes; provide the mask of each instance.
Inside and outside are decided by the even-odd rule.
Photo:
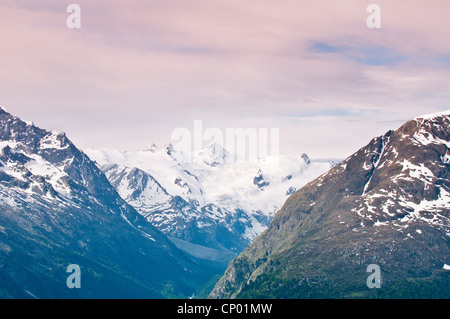
[[[183,161],[172,143],[135,153],[85,152],[122,198],[160,231],[177,243],[183,240],[230,256],[269,226],[290,194],[332,166],[306,154],[280,156],[275,171],[265,169],[271,158],[230,163],[233,154],[215,142],[193,152],[191,162]]]

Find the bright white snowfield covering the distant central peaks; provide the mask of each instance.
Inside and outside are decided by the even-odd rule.
[[[177,156],[176,150],[170,148],[169,156],[167,149],[151,147],[150,150],[138,152],[87,149],[85,153],[104,170],[113,164],[120,166],[119,169],[139,168],[151,175],[167,191],[168,195],[159,194],[158,197],[155,194],[157,185],[151,185],[142,194],[142,198],[131,201],[130,204],[141,213],[144,212],[143,215],[146,212],[148,216],[155,211],[155,203],[165,205],[168,196],[180,196],[186,202],[198,203],[196,212],[182,212],[182,217],[187,219],[194,217],[189,214],[197,217],[203,214],[200,212],[202,207],[211,220],[224,220],[227,214],[235,214],[236,209],[241,209],[247,214],[246,218],[251,225],[244,234],[248,239],[253,239],[267,227],[253,215],[263,214],[271,219],[286,201],[286,192],[290,187],[299,189],[331,167],[328,161],[312,160],[307,165],[300,155],[278,158],[269,156],[255,163],[226,163],[222,159],[226,159],[229,153],[220,145],[208,145],[204,150],[198,151],[196,154],[202,155],[201,161],[184,162]],[[194,154],[193,157],[198,159],[197,155]],[[273,163],[278,164],[276,171],[271,170]],[[253,183],[259,170],[268,183],[263,190]],[[133,191],[125,182],[117,190],[124,199]],[[152,218],[158,218],[158,221],[169,220],[168,215],[166,212],[163,216],[152,215]],[[206,223],[201,225],[206,226]]]

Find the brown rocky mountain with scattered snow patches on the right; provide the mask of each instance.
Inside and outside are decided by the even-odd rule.
[[[449,128],[414,118],[292,194],[210,298],[449,298]]]

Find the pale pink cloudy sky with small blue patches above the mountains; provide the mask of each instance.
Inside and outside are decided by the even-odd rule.
[[[162,147],[201,120],[345,158],[450,109],[449,17],[448,0],[2,0],[0,105],[82,149]]]

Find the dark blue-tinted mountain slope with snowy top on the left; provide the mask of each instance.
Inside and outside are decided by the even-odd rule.
[[[218,269],[176,248],[63,132],[0,108],[0,298],[188,297]]]

